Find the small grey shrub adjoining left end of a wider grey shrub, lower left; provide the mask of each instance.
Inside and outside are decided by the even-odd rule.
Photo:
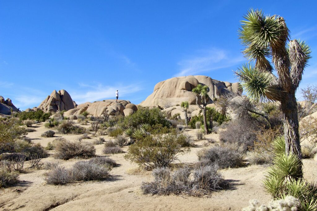
[[[48,184],[63,185],[72,181],[71,172],[59,165],[51,166],[51,171],[47,173],[45,180]]]

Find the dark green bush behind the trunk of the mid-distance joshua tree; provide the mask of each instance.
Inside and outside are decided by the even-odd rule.
[[[207,118],[207,126],[208,127],[209,127],[209,121],[210,121],[211,115],[212,115],[213,121],[217,122],[219,125],[221,125],[223,122],[229,120],[229,118],[227,118],[226,115],[219,113],[216,109],[207,107],[206,118]],[[193,128],[193,129],[196,128],[196,122],[200,122],[201,125],[204,125],[204,119],[203,119],[202,114],[199,114],[199,115],[191,118],[191,121],[189,122],[189,125],[191,126],[191,128]]]

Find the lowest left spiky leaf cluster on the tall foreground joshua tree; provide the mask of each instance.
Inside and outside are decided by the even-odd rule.
[[[281,99],[283,92],[272,73],[259,71],[249,63],[242,65],[236,71],[236,75],[252,101],[259,102],[264,99],[277,101]]]

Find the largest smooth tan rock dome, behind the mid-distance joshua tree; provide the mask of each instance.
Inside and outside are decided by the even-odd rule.
[[[161,81],[155,85],[153,93],[141,102],[142,106],[160,106],[169,108],[183,101],[188,101],[190,105],[196,104],[196,96],[191,91],[198,84],[207,85],[209,87],[208,94],[210,96],[209,103],[212,103],[214,97],[229,92],[241,94],[242,89],[239,83],[230,83],[214,80],[208,76],[183,76],[170,78]]]

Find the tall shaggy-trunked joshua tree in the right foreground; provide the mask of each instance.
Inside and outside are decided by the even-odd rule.
[[[281,103],[284,116],[286,153],[301,156],[295,91],[310,59],[310,47],[300,40],[289,40],[289,30],[280,16],[264,15],[250,9],[242,21],[239,38],[243,53],[255,63],[243,65],[236,72],[242,86],[253,101],[271,100]],[[272,73],[273,66],[277,77]]]

